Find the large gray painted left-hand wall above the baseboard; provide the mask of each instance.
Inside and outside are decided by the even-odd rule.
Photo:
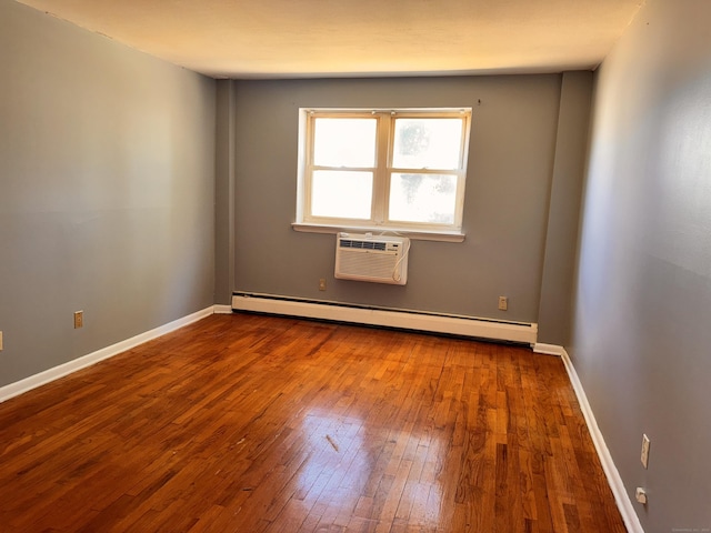
[[[3,385],[212,304],[216,99],[10,0],[0,28]]]

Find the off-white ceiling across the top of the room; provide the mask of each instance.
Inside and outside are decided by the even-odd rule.
[[[643,0],[20,0],[214,78],[594,69]]]

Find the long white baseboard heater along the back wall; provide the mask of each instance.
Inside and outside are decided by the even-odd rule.
[[[538,338],[538,324],[533,323],[344,304],[251,292],[236,292],[232,295],[232,310],[445,333],[530,344],[531,346],[535,344]]]

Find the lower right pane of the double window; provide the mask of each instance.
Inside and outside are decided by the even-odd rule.
[[[390,220],[453,224],[455,208],[455,175],[392,174]]]

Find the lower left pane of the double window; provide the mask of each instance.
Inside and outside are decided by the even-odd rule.
[[[311,189],[311,214],[370,219],[373,173],[317,170]]]

